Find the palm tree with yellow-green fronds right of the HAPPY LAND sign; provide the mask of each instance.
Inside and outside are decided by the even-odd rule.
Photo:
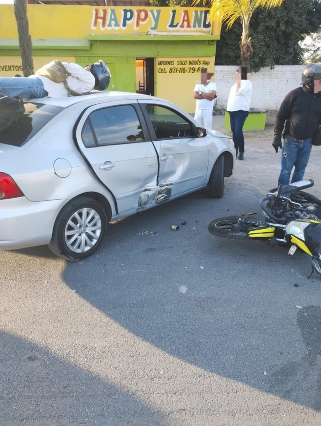
[[[251,37],[249,37],[249,24],[252,14],[258,7],[278,7],[284,0],[212,0],[210,19],[220,17],[229,29],[236,20],[242,23],[242,37],[240,50],[242,65],[249,67],[249,58],[252,53]],[[194,0],[194,6],[202,3],[206,5],[207,0]],[[271,29],[272,30],[272,29]]]

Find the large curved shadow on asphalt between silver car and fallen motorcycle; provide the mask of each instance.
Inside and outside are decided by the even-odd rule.
[[[213,201],[202,200],[198,213],[190,204],[183,198],[171,208],[160,206],[111,225],[110,243],[86,261],[68,263],[64,281],[169,354],[320,410],[318,364],[305,386],[300,376],[300,366],[308,368],[310,361],[304,358],[307,339],[296,305],[319,285],[305,278],[308,256],[291,258],[286,250],[259,242],[219,241],[206,230]],[[224,216],[223,210],[215,216]],[[179,231],[171,230],[175,223]]]

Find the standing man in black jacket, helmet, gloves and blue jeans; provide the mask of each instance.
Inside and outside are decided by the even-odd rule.
[[[309,63],[304,67],[302,83],[302,87],[286,95],[275,120],[272,145],[276,153],[282,148],[278,185],[290,183],[293,166],[295,169],[291,183],[303,179],[311,153],[312,137],[321,124],[321,63]],[[281,136],[284,138],[283,147]]]

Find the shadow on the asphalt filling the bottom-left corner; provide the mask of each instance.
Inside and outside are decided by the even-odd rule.
[[[168,425],[132,394],[33,343],[0,332],[0,347],[1,425]]]

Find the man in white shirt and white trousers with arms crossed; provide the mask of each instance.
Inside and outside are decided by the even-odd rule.
[[[201,84],[194,87],[196,109],[194,119],[205,129],[212,128],[214,98],[216,97],[216,84],[211,81],[214,74],[202,69]]]

